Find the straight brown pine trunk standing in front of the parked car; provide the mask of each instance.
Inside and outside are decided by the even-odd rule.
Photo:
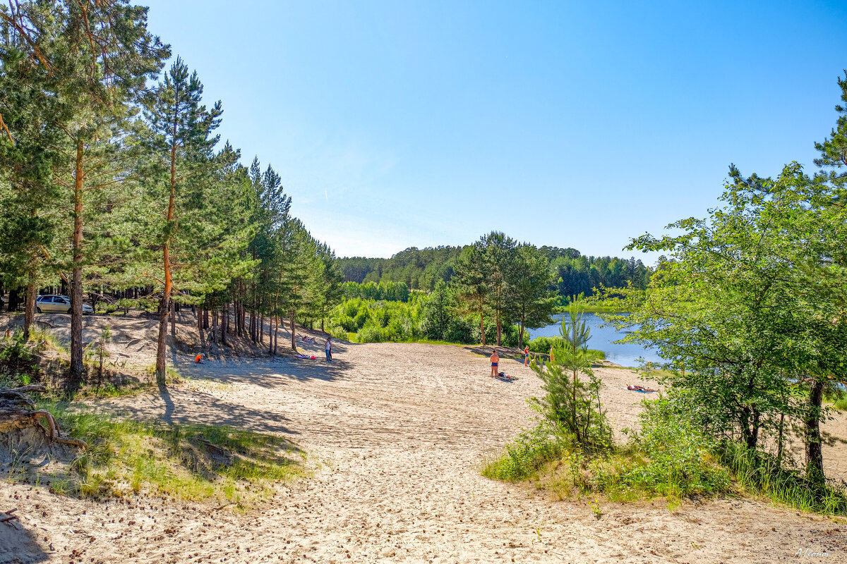
[[[84,145],[82,141],[77,141],[74,169],[74,270],[70,282],[70,374],[74,381],[81,381],[85,371],[82,361],[82,192],[85,179],[83,155]]]

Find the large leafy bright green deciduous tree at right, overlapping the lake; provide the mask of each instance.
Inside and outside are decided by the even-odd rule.
[[[833,184],[795,163],[777,179],[732,167],[724,205],[707,220],[673,224],[676,237],[635,239],[669,251],[643,306],[619,326],[658,348],[674,369],[663,379],[712,432],[739,432],[750,449],[783,415],[805,426],[807,474],[822,484],[819,420],[825,386],[844,381],[847,342],[839,265],[847,214]],[[840,263],[844,264],[844,263]],[[805,402],[795,386],[806,388]]]

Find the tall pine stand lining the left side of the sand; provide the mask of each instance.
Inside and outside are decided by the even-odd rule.
[[[239,164],[223,109],[127,0],[0,6],[0,277],[25,293],[69,288],[70,370],[84,374],[82,302],[158,303],[156,375],[170,315],[191,305],[278,347],[280,316],[322,319],[341,295],[335,256],[291,216],[273,167]],[[126,289],[132,288],[130,293]]]

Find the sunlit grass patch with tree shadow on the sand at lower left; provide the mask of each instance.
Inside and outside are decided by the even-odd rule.
[[[249,507],[272,495],[274,483],[306,474],[305,453],[276,435],[226,425],[114,419],[63,403],[39,407],[88,443],[66,467],[36,476],[57,493],[101,497],[147,491]],[[61,465],[47,468],[56,466]]]

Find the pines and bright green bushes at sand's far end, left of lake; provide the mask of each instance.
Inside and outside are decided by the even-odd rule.
[[[503,344],[505,333],[508,345],[523,346],[523,335],[528,327],[552,322],[556,285],[550,260],[542,249],[519,244],[504,233],[491,232],[462,249],[443,247],[435,250],[445,256],[454,255],[446,263],[448,267],[441,266],[449,268],[449,282],[436,279],[429,293],[410,290],[403,281],[345,282],[347,301],[333,311],[330,330],[340,334],[355,332],[360,342],[428,338],[485,344],[494,334],[498,345]],[[404,269],[412,265],[422,271],[435,268],[436,263],[424,265],[421,258],[434,255],[424,255],[417,249],[403,251],[400,255],[402,261],[411,261]],[[413,257],[418,257],[418,262],[412,260]],[[361,273],[368,260],[348,259],[347,265]],[[382,272],[385,274],[385,268]],[[354,300],[355,304],[351,304]],[[394,300],[413,302],[417,307],[403,308],[385,303]],[[407,319],[401,331],[397,323],[404,315]],[[392,323],[393,329],[390,328]]]

